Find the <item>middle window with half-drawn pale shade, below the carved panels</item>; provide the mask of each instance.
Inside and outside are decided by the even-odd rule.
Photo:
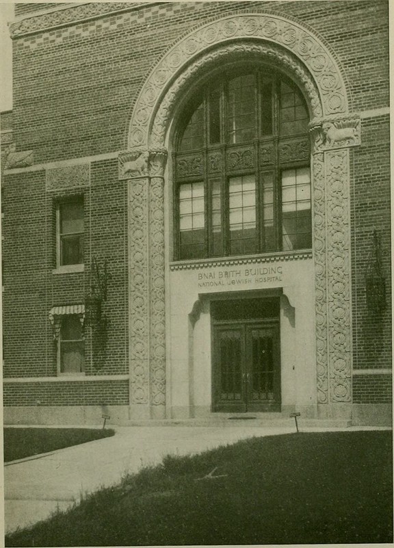
[[[257,251],[256,179],[241,175],[228,179],[230,254]]]

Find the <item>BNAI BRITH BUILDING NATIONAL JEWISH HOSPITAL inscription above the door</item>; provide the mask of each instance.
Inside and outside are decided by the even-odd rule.
[[[282,282],[282,274],[282,266],[256,266],[248,269],[199,272],[198,287]]]

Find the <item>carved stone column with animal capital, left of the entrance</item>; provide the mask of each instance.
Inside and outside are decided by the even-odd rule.
[[[127,180],[130,418],[166,415],[164,150],[119,155]]]

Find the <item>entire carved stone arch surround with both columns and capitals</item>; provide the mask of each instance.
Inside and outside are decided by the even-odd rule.
[[[304,92],[311,114],[317,416],[349,418],[352,403],[350,112],[339,62],[313,30],[272,12],[226,16],[190,32],[159,60],[137,97],[119,178],[128,187],[130,410],[166,416],[164,186],[172,119],[183,97],[218,66],[275,64]]]

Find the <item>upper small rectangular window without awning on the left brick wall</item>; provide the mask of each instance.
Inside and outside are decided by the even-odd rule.
[[[57,265],[83,264],[83,198],[57,206]]]

